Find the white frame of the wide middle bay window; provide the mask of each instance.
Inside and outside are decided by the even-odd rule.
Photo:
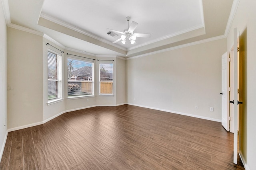
[[[89,60],[86,60],[86,59],[81,59],[80,57],[77,58],[77,57],[67,57],[67,64],[66,64],[66,67],[67,67],[67,79],[68,79],[68,59],[74,59],[74,60],[77,60],[77,61],[82,61],[82,62],[87,62],[87,63],[92,63],[92,94],[85,94],[85,95],[74,95],[74,96],[68,96],[68,93],[67,93],[67,98],[68,100],[72,100],[72,99],[76,99],[76,98],[88,98],[88,97],[93,97],[94,96],[94,61],[89,61]],[[68,81],[67,80],[67,88],[68,88]]]

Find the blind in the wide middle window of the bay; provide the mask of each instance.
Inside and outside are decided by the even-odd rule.
[[[68,97],[93,95],[93,63],[68,58]]]

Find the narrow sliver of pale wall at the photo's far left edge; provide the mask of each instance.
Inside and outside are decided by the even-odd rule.
[[[7,134],[7,32],[2,3],[0,2],[0,160]]]

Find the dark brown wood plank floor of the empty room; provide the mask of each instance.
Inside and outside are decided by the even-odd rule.
[[[93,107],[8,133],[1,170],[243,170],[221,123],[136,106]]]

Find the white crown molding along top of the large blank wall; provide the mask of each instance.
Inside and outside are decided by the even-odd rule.
[[[180,49],[180,48],[189,47],[189,46],[192,46],[192,45],[198,45],[198,44],[202,44],[202,43],[207,43],[207,42],[210,42],[210,41],[215,41],[215,40],[223,39],[223,38],[226,38],[226,36],[225,35],[220,35],[220,36],[217,36],[217,37],[203,39],[203,40],[200,40],[200,41],[195,41],[195,42],[192,42],[192,43],[178,45],[178,46],[175,46],[175,47],[170,47],[170,48],[167,48],[167,49],[162,49],[162,50],[154,51],[154,52],[151,52],[151,53],[145,53],[145,54],[142,54],[142,55],[137,55],[137,56],[134,56],[134,57],[129,57],[126,60],[136,59],[136,58],[140,58],[140,57],[144,57],[144,56],[148,56],[148,55],[153,55],[153,54],[157,54],[157,53],[163,53],[163,52],[166,52],[166,51],[172,51],[172,50],[175,50],[175,49]]]

